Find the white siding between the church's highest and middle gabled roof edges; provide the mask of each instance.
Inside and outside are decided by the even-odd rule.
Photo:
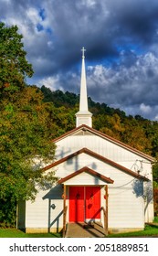
[[[74,135],[64,138],[57,143],[56,158],[57,160],[70,155],[83,147],[89,148],[91,151],[102,155],[111,161],[118,163],[133,171],[138,169],[142,163],[142,175],[148,175],[152,178],[152,165],[140,155],[131,152],[128,149],[114,144],[97,135]]]

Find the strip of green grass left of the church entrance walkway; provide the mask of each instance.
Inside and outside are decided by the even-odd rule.
[[[60,233],[26,234],[19,229],[0,229],[0,238],[61,238]]]

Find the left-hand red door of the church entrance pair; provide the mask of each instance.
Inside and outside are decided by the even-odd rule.
[[[69,221],[84,221],[84,187],[69,187]]]

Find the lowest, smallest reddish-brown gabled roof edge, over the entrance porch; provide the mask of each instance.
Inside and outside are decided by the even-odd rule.
[[[84,173],[84,172],[89,173],[92,176],[96,176],[99,179],[105,181],[106,183],[113,183],[113,180],[110,177],[100,175],[99,173],[95,172],[94,170],[90,169],[89,167],[84,166],[83,168],[79,169],[78,171],[76,171],[68,176],[65,176],[64,178],[59,179],[58,184],[62,184],[64,182],[66,182],[68,179],[70,179],[74,176],[79,176],[81,173]]]

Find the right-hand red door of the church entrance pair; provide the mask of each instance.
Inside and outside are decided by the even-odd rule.
[[[100,219],[100,187],[86,187],[86,219]]]

